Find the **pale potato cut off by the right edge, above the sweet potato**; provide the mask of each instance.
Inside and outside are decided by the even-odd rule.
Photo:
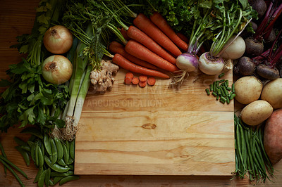
[[[262,89],[261,98],[269,102],[274,109],[282,108],[282,78],[268,82]]]

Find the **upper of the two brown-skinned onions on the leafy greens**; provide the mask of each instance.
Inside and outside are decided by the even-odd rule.
[[[45,48],[54,54],[68,52],[73,45],[73,34],[64,26],[50,27],[44,34],[43,43]]]

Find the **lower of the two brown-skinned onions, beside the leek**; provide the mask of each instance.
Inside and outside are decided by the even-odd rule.
[[[63,84],[71,79],[72,74],[73,65],[64,56],[49,56],[42,64],[42,76],[52,84]]]

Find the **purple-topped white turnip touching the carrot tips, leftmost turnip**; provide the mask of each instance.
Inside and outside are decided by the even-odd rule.
[[[187,72],[193,72],[198,68],[198,59],[193,54],[183,53],[176,58],[176,66],[180,70],[187,70]]]

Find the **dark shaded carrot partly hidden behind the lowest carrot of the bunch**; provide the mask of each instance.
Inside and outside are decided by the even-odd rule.
[[[119,44],[117,41],[112,41],[109,49],[113,52],[113,53],[119,53],[121,54],[121,56],[124,56],[125,58],[127,58],[130,62],[133,62],[137,65],[141,65],[143,67],[147,67],[149,69],[152,70],[158,70],[158,68],[150,63],[145,62],[144,60],[141,60],[140,58],[136,58],[135,56],[130,55],[130,53],[127,53],[124,49],[124,46]]]

